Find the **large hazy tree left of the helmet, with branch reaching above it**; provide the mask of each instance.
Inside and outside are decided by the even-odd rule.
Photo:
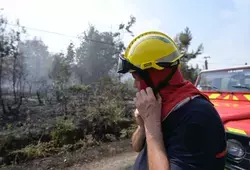
[[[121,31],[132,34],[130,28],[135,23],[135,17],[120,24],[116,32],[99,32],[94,26],[81,37],[80,47],[76,50],[76,75],[81,83],[91,83],[103,77],[109,77],[117,64],[117,58],[125,49],[121,40]]]

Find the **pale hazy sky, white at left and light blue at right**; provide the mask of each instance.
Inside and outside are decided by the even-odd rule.
[[[71,41],[78,44],[76,37],[89,24],[115,31],[133,15],[135,35],[156,30],[174,38],[188,26],[190,50],[204,45],[193,65],[202,68],[204,56],[211,57],[209,69],[250,64],[250,0],[0,0],[1,8],[10,23],[18,18],[27,27],[27,38],[40,37],[50,52],[64,51]],[[131,40],[124,35],[125,44]]]

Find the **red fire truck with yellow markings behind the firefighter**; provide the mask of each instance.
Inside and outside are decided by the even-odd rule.
[[[201,71],[195,86],[208,95],[223,121],[225,169],[250,170],[250,66]]]

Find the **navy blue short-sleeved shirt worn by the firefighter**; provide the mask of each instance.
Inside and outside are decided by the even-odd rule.
[[[162,124],[171,170],[223,170],[225,130],[213,105],[202,97],[172,112]],[[134,170],[147,170],[147,146],[138,155]]]

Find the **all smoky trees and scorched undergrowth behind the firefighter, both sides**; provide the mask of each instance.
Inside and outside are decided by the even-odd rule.
[[[115,32],[90,25],[78,47],[52,54],[26,30],[11,28],[0,15],[0,164],[20,164],[35,158],[72,152],[131,136],[135,124],[131,79],[116,73],[124,51],[124,34],[133,36],[136,18]],[[185,58],[183,73],[194,81],[198,67],[188,61],[202,53],[188,52],[191,32],[176,36]]]

